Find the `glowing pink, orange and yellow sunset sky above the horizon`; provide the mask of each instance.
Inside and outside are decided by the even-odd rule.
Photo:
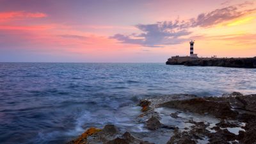
[[[256,1],[0,0],[0,61],[256,56]]]

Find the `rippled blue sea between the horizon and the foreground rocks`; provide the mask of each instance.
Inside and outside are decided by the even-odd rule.
[[[256,69],[164,63],[0,63],[0,143],[63,143],[84,129],[137,124],[138,99],[256,93]]]

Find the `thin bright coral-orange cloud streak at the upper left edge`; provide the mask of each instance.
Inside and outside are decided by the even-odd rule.
[[[29,13],[24,11],[17,12],[1,12],[0,19],[26,19],[26,18],[44,18],[47,17],[45,13]]]

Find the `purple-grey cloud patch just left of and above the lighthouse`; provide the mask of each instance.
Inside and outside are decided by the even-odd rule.
[[[136,28],[143,31],[138,35],[116,34],[110,38],[115,38],[126,44],[139,44],[146,47],[161,47],[162,45],[180,44],[187,39],[180,36],[189,35],[191,32],[182,29],[186,24],[179,22],[157,22],[157,24],[138,24]]]

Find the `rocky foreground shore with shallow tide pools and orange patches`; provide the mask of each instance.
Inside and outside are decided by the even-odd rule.
[[[239,92],[222,97],[197,97],[177,94],[140,100],[140,122],[149,132],[132,134],[115,125],[103,129],[91,127],[75,143],[150,144],[150,143],[256,143],[256,95]],[[97,125],[95,125],[97,126]],[[144,137],[165,132],[168,140],[156,137],[154,142]]]

